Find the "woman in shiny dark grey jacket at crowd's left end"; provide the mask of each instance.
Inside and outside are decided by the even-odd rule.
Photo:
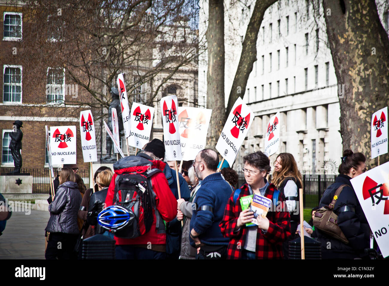
[[[75,259],[74,246],[79,235],[77,212],[82,198],[72,169],[63,168],[59,179],[60,185],[49,205],[50,219],[45,230],[50,235],[45,258]]]

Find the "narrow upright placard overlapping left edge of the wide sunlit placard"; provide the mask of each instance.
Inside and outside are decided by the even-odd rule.
[[[178,129],[177,97],[170,95],[161,98],[161,114],[166,161],[182,159],[180,133]]]

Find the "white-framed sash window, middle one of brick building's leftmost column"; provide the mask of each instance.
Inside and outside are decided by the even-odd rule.
[[[22,102],[21,66],[3,66],[3,102]]]

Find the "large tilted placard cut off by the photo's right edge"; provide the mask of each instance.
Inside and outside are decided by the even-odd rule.
[[[389,256],[389,162],[350,182],[382,255]]]

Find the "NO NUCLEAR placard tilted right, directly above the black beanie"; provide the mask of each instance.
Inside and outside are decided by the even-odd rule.
[[[131,134],[128,137],[128,145],[143,149],[150,141],[154,107],[133,102],[131,115]]]

